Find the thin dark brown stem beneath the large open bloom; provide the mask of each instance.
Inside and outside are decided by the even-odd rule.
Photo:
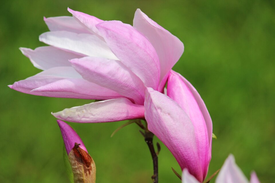
[[[152,180],[153,180],[153,183],[158,183],[158,156],[154,148],[153,137],[154,137],[154,134],[150,132],[148,129],[145,129],[144,140],[149,147],[149,150],[153,159],[153,166],[154,166],[154,175],[152,176]]]

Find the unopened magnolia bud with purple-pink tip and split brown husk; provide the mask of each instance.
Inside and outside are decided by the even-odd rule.
[[[75,183],[95,183],[96,168],[82,140],[68,124],[57,120],[72,167]]]

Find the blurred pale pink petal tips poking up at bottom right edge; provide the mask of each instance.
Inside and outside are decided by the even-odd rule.
[[[241,171],[241,169],[235,163],[235,158],[233,155],[225,160],[219,175],[216,178],[216,183],[248,183],[249,181]],[[189,174],[187,169],[182,172],[182,183],[199,183],[198,180],[191,174]],[[252,172],[250,183],[260,183],[255,172]]]

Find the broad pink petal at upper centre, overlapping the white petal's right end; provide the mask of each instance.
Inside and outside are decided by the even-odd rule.
[[[156,89],[160,65],[151,43],[131,25],[121,21],[104,21],[96,27],[119,60],[140,77],[145,86]]]

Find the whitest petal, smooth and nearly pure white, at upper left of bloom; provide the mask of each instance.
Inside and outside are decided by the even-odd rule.
[[[68,31],[45,32],[39,36],[39,40],[83,56],[117,59],[106,43],[92,34],[77,34]]]

